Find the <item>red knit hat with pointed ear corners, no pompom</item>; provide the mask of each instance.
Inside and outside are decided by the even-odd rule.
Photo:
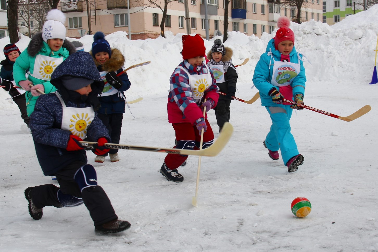
[[[181,51],[183,59],[204,56],[206,54],[205,51],[205,43],[203,42],[200,34],[195,34],[194,36],[183,36],[183,50]]]

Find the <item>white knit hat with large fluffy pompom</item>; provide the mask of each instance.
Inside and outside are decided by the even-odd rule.
[[[46,22],[42,28],[42,39],[47,43],[49,39],[63,39],[66,38],[66,16],[59,9],[52,9],[46,15]]]

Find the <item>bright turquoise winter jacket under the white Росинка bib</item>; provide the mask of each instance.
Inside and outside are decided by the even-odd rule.
[[[275,104],[272,101],[272,97],[268,95],[268,92],[273,87],[279,90],[279,87],[274,86],[270,83],[270,80],[272,79],[272,75],[273,75],[273,64],[274,64],[274,61],[271,60],[271,56],[268,55],[268,52],[270,51],[272,52],[273,58],[275,61],[281,60],[281,53],[275,49],[274,39],[271,39],[268,45],[266,46],[265,53],[263,53],[260,56],[260,60],[259,62],[257,62],[256,68],[253,74],[253,84],[259,90],[261,105],[264,107],[270,107]],[[299,54],[299,56],[302,57],[301,54]],[[303,66],[302,60],[298,59],[298,54],[295,49],[295,46],[293,46],[293,51],[291,51],[290,53],[290,62],[292,63],[300,62],[300,65],[301,65],[301,71],[293,79],[293,82],[291,83],[291,87],[293,88],[293,96],[295,96],[296,94],[302,94],[304,96],[305,86],[306,86],[305,68]],[[269,69],[269,66],[270,66],[270,69]],[[292,100],[293,97],[285,97],[285,99]]]

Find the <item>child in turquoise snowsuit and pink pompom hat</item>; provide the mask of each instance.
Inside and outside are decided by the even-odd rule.
[[[303,104],[306,76],[302,55],[294,47],[290,20],[280,17],[277,26],[276,37],[268,42],[266,52],[257,62],[253,84],[260,91],[261,104],[268,110],[272,120],[263,144],[273,160],[279,159],[280,150],[288,172],[295,172],[304,162],[304,157],[299,154],[290,132],[290,117],[293,109],[303,109],[300,105]],[[294,100],[296,104],[291,105],[283,99]]]

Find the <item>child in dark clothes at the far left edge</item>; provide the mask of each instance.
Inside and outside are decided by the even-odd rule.
[[[26,98],[24,94],[25,91],[13,87],[13,85],[15,85],[13,83],[13,65],[16,59],[20,56],[21,52],[17,45],[14,44],[6,45],[3,51],[5,60],[2,60],[2,62],[0,62],[0,64],[2,65],[0,70],[0,77],[3,79],[1,85],[5,86],[4,90],[8,91],[8,93],[12,97],[12,100],[15,102],[15,104],[17,104],[17,106],[19,106],[21,118],[24,120],[29,129],[30,119],[28,114],[26,113]]]

